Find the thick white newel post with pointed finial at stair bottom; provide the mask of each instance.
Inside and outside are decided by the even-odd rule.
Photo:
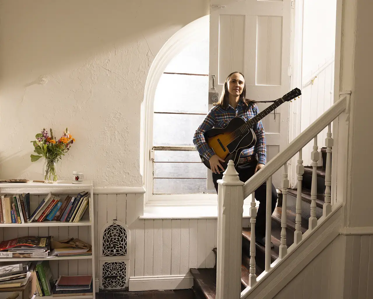
[[[232,160],[217,181],[217,276],[216,299],[239,299],[241,296],[242,212],[244,182]]]

